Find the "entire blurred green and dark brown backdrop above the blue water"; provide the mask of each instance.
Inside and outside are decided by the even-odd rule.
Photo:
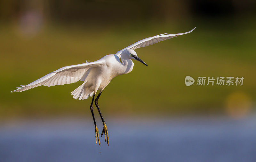
[[[253,113],[255,1],[0,1],[0,118],[91,116],[91,99],[70,94],[82,82],[11,93],[60,67],[98,60],[141,39],[187,32],[136,52],[148,67],[111,81],[104,116]],[[185,77],[238,76],[243,86],[185,86]],[[131,84],[132,83],[132,84]]]

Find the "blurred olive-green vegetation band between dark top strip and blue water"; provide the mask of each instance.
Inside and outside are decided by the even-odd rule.
[[[118,76],[103,91],[103,114],[219,114],[234,92],[256,97],[255,19],[190,20],[121,25],[52,25],[27,37],[17,25],[0,26],[0,117],[90,115],[91,98],[76,101],[71,92],[82,82],[37,87],[11,93],[60,67],[98,60],[132,43],[164,32],[187,32],[136,52],[148,67],[134,62],[130,74]],[[238,23],[239,22],[239,23]],[[253,24],[254,23],[254,24]],[[161,25],[159,25],[161,24]],[[174,25],[175,24],[175,25]],[[243,86],[190,86],[185,76],[243,76]]]

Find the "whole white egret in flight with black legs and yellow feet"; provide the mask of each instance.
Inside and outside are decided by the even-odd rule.
[[[95,125],[96,144],[98,139],[99,145],[100,145],[100,137],[99,137],[99,130],[97,128],[96,121],[93,115],[93,107],[92,107],[93,101],[95,102],[95,105],[99,111],[100,118],[103,123],[103,130],[101,133],[101,137],[104,133],[105,142],[107,137],[107,143],[108,143],[109,140],[108,140],[107,125],[103,119],[103,116],[101,115],[100,108],[98,105],[98,100],[104,88],[109,84],[109,82],[114,77],[121,74],[130,73],[134,65],[132,60],[140,61],[144,65],[148,66],[144,61],[142,61],[137,56],[137,53],[134,51],[135,49],[153,45],[157,42],[167,40],[173,37],[177,37],[179,35],[188,34],[192,32],[194,29],[192,29],[189,32],[184,32],[179,34],[165,33],[165,34],[156,35],[154,37],[142,39],[132,44],[131,46],[128,46],[122,49],[121,51],[118,51],[116,54],[106,55],[102,57],[100,60],[97,60],[94,62],[88,62],[86,60],[86,62],[83,64],[62,67],[50,74],[43,76],[42,78],[36,81],[33,81],[32,83],[29,83],[26,86],[20,85],[21,87],[17,87],[17,89],[13,90],[12,92],[22,92],[30,88],[35,88],[42,85],[50,87],[55,85],[75,83],[79,80],[84,81],[82,85],[80,85],[73,92],[71,92],[71,95],[73,95],[73,98],[78,100],[84,100],[84,99],[87,99],[89,96],[92,96],[92,103],[91,103],[90,109],[91,109],[92,118]],[[119,59],[121,59],[121,61]],[[94,100],[97,90],[100,90],[100,93]]]

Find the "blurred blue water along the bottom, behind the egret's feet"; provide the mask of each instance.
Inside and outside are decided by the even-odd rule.
[[[100,120],[98,120],[99,123]],[[256,118],[125,119],[95,145],[91,120],[27,121],[0,127],[0,161],[256,161]],[[101,131],[101,124],[98,124]]]

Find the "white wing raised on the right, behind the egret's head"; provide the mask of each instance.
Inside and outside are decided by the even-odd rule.
[[[135,50],[135,49],[140,48],[140,47],[146,47],[146,46],[153,45],[153,44],[158,43],[158,42],[163,41],[163,40],[167,40],[167,39],[170,39],[170,38],[173,38],[173,37],[177,37],[179,35],[188,34],[188,33],[192,32],[193,30],[195,30],[195,28],[192,29],[191,31],[185,32],[185,33],[178,33],[178,34],[167,34],[167,33],[165,33],[165,34],[156,35],[154,37],[145,38],[145,39],[140,40],[139,42],[136,42],[136,43],[132,44],[131,46],[128,46],[128,47],[122,49],[121,51],[118,51],[115,55],[117,55],[120,58],[122,51],[124,51],[126,49]]]

